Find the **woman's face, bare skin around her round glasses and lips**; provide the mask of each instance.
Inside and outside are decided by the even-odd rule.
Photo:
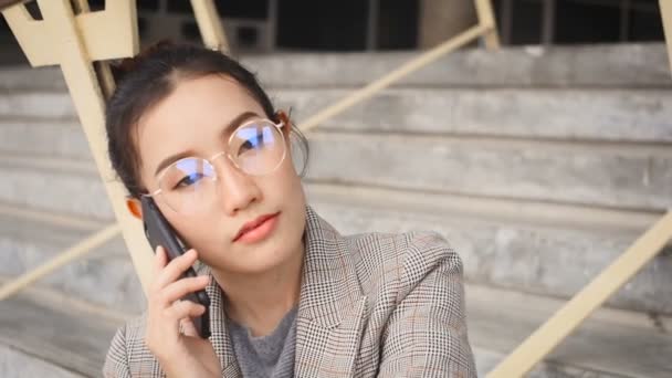
[[[259,103],[231,78],[208,75],[180,80],[176,90],[144,114],[138,123],[137,146],[145,187],[150,192],[158,189],[155,171],[169,157],[183,154],[209,159],[227,150],[229,135],[238,125],[228,133],[227,126],[248,112],[255,115],[246,120],[266,118]],[[303,251],[305,198],[292,165],[290,126],[285,125],[282,130],[287,155],[269,175],[249,176],[225,157],[212,160],[218,177],[217,195],[213,204],[204,211],[178,213],[167,204],[164,196],[155,196],[170,224],[211,267],[261,273]],[[274,213],[279,216],[270,222],[274,227],[265,238],[234,240],[243,224]]]

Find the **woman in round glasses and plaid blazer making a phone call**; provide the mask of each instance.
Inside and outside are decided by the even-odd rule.
[[[340,235],[306,204],[305,138],[235,61],[160,45],[133,62],[108,104],[111,160],[129,210],[151,197],[191,250],[155,251],[147,311],[114,336],[106,377],[476,375],[442,238]],[[180,301],[203,288],[210,338],[191,322],[204,307]]]

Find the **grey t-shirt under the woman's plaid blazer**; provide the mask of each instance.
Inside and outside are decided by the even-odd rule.
[[[260,337],[229,318],[229,335],[243,377],[294,376],[296,311],[297,307],[291,309],[270,335]]]

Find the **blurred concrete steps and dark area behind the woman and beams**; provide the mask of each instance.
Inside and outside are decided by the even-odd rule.
[[[471,0],[216,4],[232,54],[300,127],[476,23]],[[672,204],[659,2],[493,6],[501,50],[474,43],[308,133],[305,179],[309,202],[343,233],[448,238],[464,262],[480,375]],[[200,41],[188,0],[137,7],[144,46]],[[114,216],[60,70],[31,69],[1,18],[0,64],[1,284]],[[114,330],[144,306],[117,238],[0,302],[0,377],[99,376]],[[670,377],[671,315],[666,249],[531,376]]]

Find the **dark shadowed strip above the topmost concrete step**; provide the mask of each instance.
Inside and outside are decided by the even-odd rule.
[[[92,10],[104,0],[91,0]],[[375,52],[433,46],[476,22],[469,0],[216,0],[240,53]],[[493,0],[504,45],[662,42],[658,0]],[[36,18],[35,2],[29,8]],[[200,42],[189,0],[137,0],[143,44]],[[0,21],[2,63],[25,62]]]

